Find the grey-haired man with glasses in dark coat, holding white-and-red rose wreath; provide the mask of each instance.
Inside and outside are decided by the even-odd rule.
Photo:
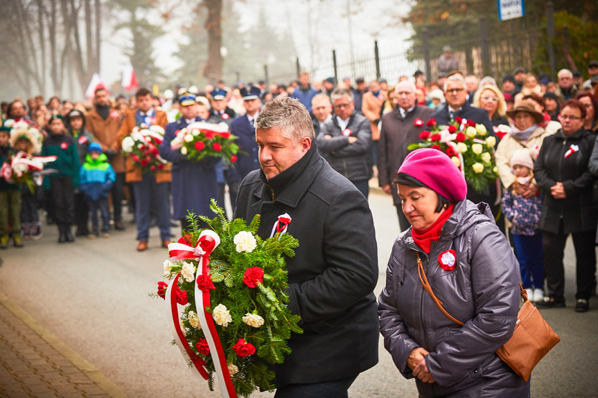
[[[488,111],[472,107],[467,102],[467,85],[461,75],[455,74],[446,78],[444,82],[444,97],[446,98],[446,107],[439,109],[430,116],[430,118],[436,119],[437,125],[447,125],[451,120],[460,117],[484,125],[488,134],[495,136]],[[482,201],[488,203],[495,219],[500,215],[500,201],[497,200],[498,195],[497,187],[493,184],[489,185],[486,192],[477,192],[470,185],[467,186],[467,199],[473,201],[473,203],[480,203]],[[504,217],[498,217],[496,224],[504,232]]]

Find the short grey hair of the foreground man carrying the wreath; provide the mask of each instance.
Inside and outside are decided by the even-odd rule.
[[[315,138],[311,116],[304,105],[295,98],[274,98],[266,102],[256,118],[256,129],[279,129],[283,137],[297,145],[304,138]]]

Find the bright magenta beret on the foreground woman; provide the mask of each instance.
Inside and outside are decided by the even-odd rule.
[[[467,183],[463,174],[455,163],[439,150],[414,150],[407,155],[397,173],[409,174],[451,201],[461,201],[467,195]]]

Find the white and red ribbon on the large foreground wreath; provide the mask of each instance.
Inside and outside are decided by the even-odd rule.
[[[213,230],[203,230],[200,234],[200,238],[197,239],[197,244],[195,244],[195,247],[191,247],[186,244],[171,243],[168,245],[168,253],[170,255],[170,260],[196,260],[200,262],[200,264],[197,266],[197,272],[195,273],[195,280],[197,281],[197,278],[200,275],[209,275],[209,255],[216,248],[216,246],[218,246],[218,244],[220,244],[220,237],[216,232]],[[179,275],[175,277],[173,282],[170,282],[166,294],[166,296],[170,298],[170,301],[168,302],[168,312],[173,320],[173,327],[175,329],[173,335],[175,335],[175,341],[177,341],[179,349],[183,355],[189,356],[193,361],[193,365],[195,365],[197,371],[200,372],[204,379],[207,379],[207,373],[203,368],[204,363],[202,364],[203,360],[197,356],[193,350],[191,350],[191,347],[188,346],[186,338],[181,329],[176,306],[175,291],[176,281],[178,278]],[[220,338],[218,338],[216,325],[214,324],[212,315],[206,311],[206,307],[211,307],[210,291],[209,289],[206,289],[206,291],[200,290],[200,288],[197,286],[197,282],[195,282],[194,296],[195,309],[197,309],[197,318],[200,320],[202,331],[204,332],[204,336],[210,347],[210,356],[214,364],[216,379],[218,379],[222,397],[236,398],[237,395],[233,381],[231,380],[231,374],[228,370],[225,352],[222,349]],[[172,300],[175,300],[174,304]],[[197,359],[199,359],[199,361],[197,361]]]

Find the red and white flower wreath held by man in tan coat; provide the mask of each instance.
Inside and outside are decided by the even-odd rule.
[[[167,162],[158,153],[162,141],[164,129],[161,126],[141,123],[133,127],[130,136],[123,138],[123,153],[144,173],[163,170]]]

